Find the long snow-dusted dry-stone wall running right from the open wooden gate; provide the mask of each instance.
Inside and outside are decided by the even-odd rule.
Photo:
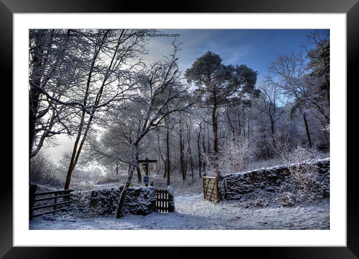
[[[315,179],[315,191],[323,198],[329,197],[330,160],[315,162],[318,172]],[[243,173],[225,175],[228,200],[239,200],[244,196],[260,196],[275,193],[290,184],[287,165],[262,168]]]

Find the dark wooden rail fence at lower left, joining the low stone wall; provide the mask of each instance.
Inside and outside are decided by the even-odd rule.
[[[72,200],[70,200],[70,197],[72,194],[70,192],[73,192],[74,190],[56,190],[56,191],[49,191],[49,192],[36,192],[36,185],[30,185],[30,192],[29,192],[29,216],[30,219],[33,217],[45,215],[45,214],[55,214],[58,211],[61,211],[65,209],[66,207],[63,207],[63,205],[71,203]],[[53,195],[53,196],[52,196]],[[41,198],[37,198],[41,197]],[[58,200],[61,200],[58,202]],[[43,202],[47,200],[54,200],[54,202]],[[36,203],[42,202],[42,204]],[[60,207],[60,208],[59,208]],[[41,211],[37,214],[33,214],[34,210],[43,210],[46,208],[52,208],[52,210],[49,211]]]

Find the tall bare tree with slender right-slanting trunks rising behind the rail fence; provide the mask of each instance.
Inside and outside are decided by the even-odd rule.
[[[144,36],[137,30],[99,30],[96,35],[83,96],[83,105],[92,103],[92,107],[89,116],[86,116],[85,111],[81,114],[65,189],[70,186],[72,172],[91,129],[95,113],[108,110],[115,105],[123,105],[135,90],[137,82],[134,69],[138,63],[128,64],[128,61],[145,53],[144,41]],[[105,109],[99,108],[100,101],[106,103]]]

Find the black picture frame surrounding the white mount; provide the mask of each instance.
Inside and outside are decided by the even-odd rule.
[[[181,4],[169,8],[169,2],[147,1],[138,4],[135,1],[114,0],[0,0],[1,27],[1,59],[0,71],[4,75],[12,74],[13,70],[13,14],[16,13],[346,13],[347,21],[347,85],[354,81],[357,72],[355,64],[358,60],[359,49],[359,3],[358,0],[239,0],[239,1],[182,1]],[[355,73],[356,72],[356,73]],[[2,77],[4,78],[4,77]],[[7,76],[9,78],[9,76]],[[12,85],[12,78],[8,85]],[[9,89],[9,96],[12,93]],[[13,96],[14,98],[14,96]],[[11,98],[9,98],[11,99]],[[10,116],[10,114],[8,114]],[[9,118],[8,121],[11,121]],[[10,123],[9,123],[10,124]],[[7,131],[10,132],[8,126]],[[13,137],[14,138],[14,137]],[[332,151],[335,153],[335,151]],[[14,154],[15,155],[15,154]],[[356,170],[357,171],[357,170]],[[258,255],[269,258],[357,258],[359,257],[359,200],[356,193],[356,172],[347,170],[347,246],[346,247],[241,247],[241,255],[250,252],[251,257]],[[342,172],[343,175],[345,172]],[[90,247],[13,247],[13,191],[12,175],[2,174],[7,185],[0,188],[0,256],[4,258],[64,258],[77,257],[77,252],[91,254],[90,257],[105,257],[105,254],[116,249],[121,253],[123,247],[106,248],[106,252]],[[8,179],[4,179],[8,178]],[[76,249],[73,251],[73,249]],[[127,249],[130,251],[129,249]],[[147,248],[136,248],[136,255],[151,254]],[[133,248],[132,248],[133,251]],[[216,249],[206,249],[202,256],[216,253]],[[230,252],[230,251],[229,251]],[[187,256],[186,249],[174,247],[171,257]],[[223,256],[223,253],[220,252]],[[227,253],[227,251],[226,251]],[[156,255],[156,253],[152,253]],[[201,256],[201,257],[202,257]],[[126,256],[121,256],[126,257]],[[132,256],[131,256],[132,257]],[[207,257],[207,256],[206,256]]]

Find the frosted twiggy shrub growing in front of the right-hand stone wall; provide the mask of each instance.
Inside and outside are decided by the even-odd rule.
[[[289,165],[289,175],[294,180],[297,195],[310,198],[319,169],[315,161],[319,160],[320,152],[315,147],[307,149],[298,144],[291,152],[282,152],[280,157],[283,164]]]

